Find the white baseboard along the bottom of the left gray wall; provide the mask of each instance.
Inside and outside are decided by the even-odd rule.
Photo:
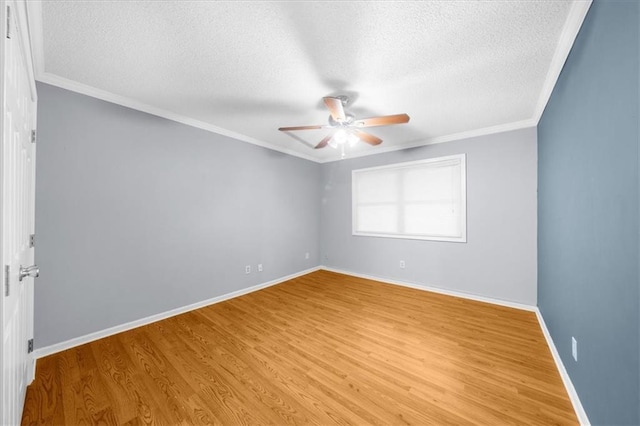
[[[191,305],[183,306],[180,308],[172,309],[167,312],[162,312],[159,314],[151,315],[146,318],[141,318],[139,320],[131,321],[125,324],[117,325],[115,327],[107,328],[105,330],[96,331],[94,333],[89,333],[84,336],[75,337],[73,339],[66,340],[64,342],[56,343],[54,345],[45,346],[43,348],[36,349],[33,352],[33,357],[35,359],[43,358],[48,355],[52,355],[58,352],[62,352],[67,349],[74,348],[76,346],[84,345],[85,343],[93,342],[94,340],[102,339],[104,337],[113,336],[114,334],[121,333],[123,331],[131,330],[133,328],[141,327],[143,325],[151,324],[156,321],[161,321],[163,319],[171,318],[176,315],[183,314],[185,312],[193,311],[195,309],[203,308],[205,306],[213,305],[215,303],[223,302],[225,300],[233,299],[234,297],[243,296],[245,294],[253,293],[254,291],[262,290],[263,288],[271,287],[276,284],[280,284],[282,282],[300,277],[302,275],[309,274],[311,272],[315,272],[320,269],[319,266],[314,268],[305,269],[304,271],[296,272],[295,274],[287,275],[285,277],[280,277],[275,280],[271,280],[262,284],[254,285],[253,287],[244,288],[242,290],[234,291],[231,293],[223,294],[221,296],[216,296],[211,299],[203,300],[200,302],[193,303]],[[35,363],[34,363],[35,364]]]

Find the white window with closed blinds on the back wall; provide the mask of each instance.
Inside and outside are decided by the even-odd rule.
[[[465,155],[352,172],[353,234],[467,241]]]

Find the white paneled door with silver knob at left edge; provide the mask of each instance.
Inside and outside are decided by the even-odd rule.
[[[1,0],[2,160],[0,219],[2,232],[2,369],[0,423],[19,424],[34,360],[33,265],[35,214],[36,93],[26,32],[24,1]],[[31,267],[31,268],[29,268]]]

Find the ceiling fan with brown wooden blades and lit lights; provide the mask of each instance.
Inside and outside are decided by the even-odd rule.
[[[329,109],[329,124],[280,127],[278,130],[289,132],[292,130],[330,129],[329,134],[315,146],[315,149],[324,148],[327,145],[333,148],[341,147],[344,156],[344,146],[346,144],[354,145],[360,140],[370,145],[379,145],[382,143],[382,139],[379,137],[363,132],[360,129],[409,122],[409,116],[407,114],[383,115],[380,117],[356,120],[353,114],[349,114],[344,110],[344,107],[349,103],[347,96],[327,96],[322,99]]]

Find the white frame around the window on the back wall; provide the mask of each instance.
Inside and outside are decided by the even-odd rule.
[[[421,234],[407,234],[407,233],[380,233],[380,232],[363,232],[356,230],[357,225],[357,174],[363,172],[371,172],[375,170],[389,170],[389,169],[402,169],[406,167],[416,166],[420,164],[434,164],[447,162],[452,160],[459,160],[460,162],[460,236],[441,236],[441,235],[421,235]],[[402,203],[401,209],[406,206],[406,201],[401,200],[397,202],[399,205]],[[446,241],[446,242],[467,242],[467,167],[466,167],[466,154],[454,154],[443,157],[433,157],[424,160],[407,161],[404,163],[387,164],[384,166],[368,167],[364,169],[354,169],[351,171],[351,233],[353,236],[358,237],[382,237],[382,238],[400,238],[409,240],[425,240],[425,241]]]

